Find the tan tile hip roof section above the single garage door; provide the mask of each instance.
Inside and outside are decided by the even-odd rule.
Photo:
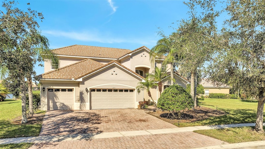
[[[37,77],[46,79],[72,79],[92,71],[104,64],[91,59],[84,59],[80,62],[43,73]]]

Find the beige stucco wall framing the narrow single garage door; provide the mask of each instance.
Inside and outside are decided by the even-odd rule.
[[[74,109],[79,110],[79,82],[76,81],[45,81],[41,80],[41,110],[49,108],[47,101],[47,88],[73,88],[74,89]],[[45,87],[45,91],[42,88]],[[47,104],[48,102],[48,104]]]

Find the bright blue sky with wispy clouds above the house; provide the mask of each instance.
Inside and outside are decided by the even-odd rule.
[[[30,2],[30,5],[27,3]],[[183,1],[18,1],[17,7],[42,12],[42,35],[50,48],[90,45],[134,50],[152,48],[161,37],[174,32],[177,20],[187,18]],[[175,23],[175,24],[172,24]],[[172,26],[172,27],[169,27]],[[160,28],[160,29],[158,29]],[[36,65],[37,75],[44,72]]]

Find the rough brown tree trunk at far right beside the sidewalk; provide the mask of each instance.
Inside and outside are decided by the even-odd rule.
[[[264,100],[259,100],[258,102],[258,109],[257,109],[257,120],[256,120],[256,126],[255,126],[255,130],[258,133],[264,133],[263,130],[263,107],[264,107]]]

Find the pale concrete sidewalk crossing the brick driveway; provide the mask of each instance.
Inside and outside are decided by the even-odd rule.
[[[265,123],[263,123],[263,125],[265,125]],[[35,142],[35,143],[59,142],[59,141],[67,141],[67,140],[114,138],[114,137],[137,136],[137,135],[192,132],[194,130],[224,129],[224,128],[243,127],[243,126],[255,126],[255,123],[193,126],[193,127],[154,129],[154,130],[137,130],[137,131],[123,131],[123,132],[107,132],[107,133],[98,133],[98,134],[91,133],[91,134],[73,134],[73,135],[60,135],[60,136],[47,135],[47,136],[38,136],[38,137],[8,138],[8,139],[0,139],[0,144],[22,143],[22,142]]]

